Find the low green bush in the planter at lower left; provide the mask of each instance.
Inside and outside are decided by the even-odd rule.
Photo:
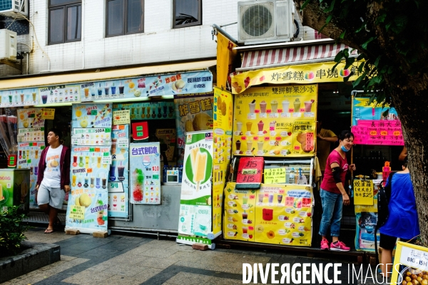
[[[16,254],[26,239],[24,232],[29,227],[22,222],[26,215],[19,214],[18,209],[13,206],[0,212],[0,256]]]

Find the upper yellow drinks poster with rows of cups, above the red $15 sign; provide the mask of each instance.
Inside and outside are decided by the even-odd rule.
[[[316,144],[317,84],[250,88],[235,95],[233,153],[312,156]]]

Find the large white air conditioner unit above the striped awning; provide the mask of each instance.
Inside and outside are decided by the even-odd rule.
[[[292,0],[238,2],[238,42],[290,41],[294,13]]]

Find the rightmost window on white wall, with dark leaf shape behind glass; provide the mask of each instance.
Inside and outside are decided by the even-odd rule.
[[[202,0],[173,0],[173,28],[202,25]]]

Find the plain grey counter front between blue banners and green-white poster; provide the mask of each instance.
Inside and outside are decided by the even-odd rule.
[[[161,204],[132,204],[132,220],[109,219],[109,229],[177,233],[181,185],[162,185]]]

